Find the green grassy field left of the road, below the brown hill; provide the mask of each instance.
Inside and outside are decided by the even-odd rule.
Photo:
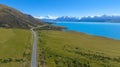
[[[31,32],[0,28],[0,67],[30,67]]]

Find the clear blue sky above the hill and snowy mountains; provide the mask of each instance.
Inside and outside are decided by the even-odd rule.
[[[33,16],[120,15],[120,0],[0,0]]]

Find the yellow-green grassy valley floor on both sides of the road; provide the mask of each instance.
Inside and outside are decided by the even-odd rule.
[[[74,31],[36,33],[36,67],[120,66],[119,40]],[[30,30],[1,28],[0,66],[31,67],[33,40]]]

